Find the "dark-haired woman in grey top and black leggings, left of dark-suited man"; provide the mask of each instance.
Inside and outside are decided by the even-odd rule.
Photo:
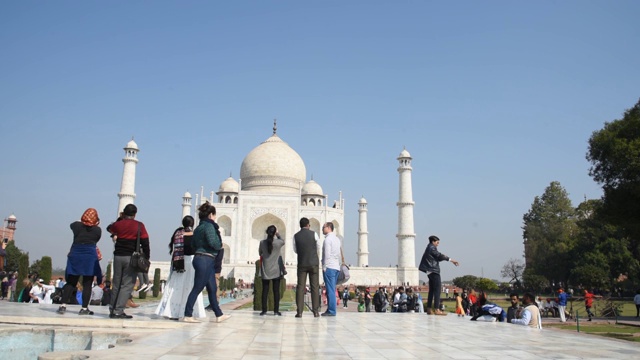
[[[267,314],[267,298],[269,295],[269,284],[273,287],[273,313],[282,316],[280,312],[280,279],[284,276],[282,268],[278,262],[280,251],[284,246],[284,240],[274,225],[267,227],[267,238],[260,241],[258,254],[262,260],[260,263],[260,274],[262,277],[262,312],[260,316]]]

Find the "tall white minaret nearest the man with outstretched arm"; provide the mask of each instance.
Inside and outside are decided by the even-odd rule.
[[[400,174],[400,198],[398,200],[398,280],[402,283],[418,281],[416,272],[415,279],[403,268],[415,268],[415,240],[416,234],[413,229],[413,191],[411,189],[411,155],[407,149],[402,150],[398,156],[398,173]],[[411,279],[410,279],[411,278]]]

